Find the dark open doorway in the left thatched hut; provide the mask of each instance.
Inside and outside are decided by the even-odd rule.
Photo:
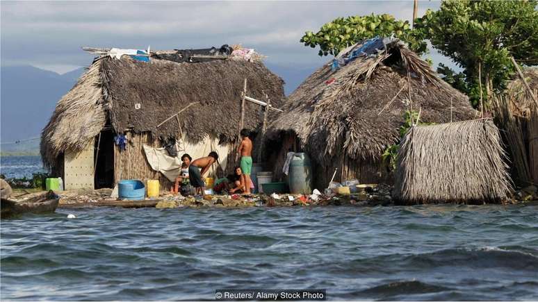
[[[114,133],[101,131],[95,137],[95,189],[114,187]]]

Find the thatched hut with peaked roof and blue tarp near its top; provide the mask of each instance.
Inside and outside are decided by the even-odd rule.
[[[313,159],[314,187],[325,187],[335,169],[336,181],[390,182],[382,153],[398,142],[405,110],[421,110],[421,120],[427,122],[475,117],[468,98],[438,78],[405,44],[377,39],[375,49],[365,49],[367,43],[375,45],[371,42],[346,50],[362,53],[336,70],[324,65],[288,98],[284,113],[268,131],[270,140],[283,142],[273,153],[279,162],[277,177],[282,158],[292,149]]]

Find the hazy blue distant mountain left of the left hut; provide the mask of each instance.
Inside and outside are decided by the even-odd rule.
[[[39,136],[56,103],[73,87],[83,70],[57,74],[32,66],[0,67],[1,142]],[[24,145],[35,146],[35,142]],[[19,146],[14,148],[19,151]],[[2,144],[1,149],[11,148]]]

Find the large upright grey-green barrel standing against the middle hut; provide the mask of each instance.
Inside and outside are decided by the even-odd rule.
[[[288,182],[291,194],[312,192],[312,169],[307,153],[295,153],[290,163]]]

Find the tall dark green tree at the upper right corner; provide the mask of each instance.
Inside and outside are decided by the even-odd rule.
[[[430,40],[444,56],[464,69],[456,74],[446,66],[437,71],[471,97],[478,106],[480,81],[484,100],[503,90],[514,72],[513,56],[523,65],[538,64],[537,2],[446,0],[437,11],[416,19],[417,36]]]

